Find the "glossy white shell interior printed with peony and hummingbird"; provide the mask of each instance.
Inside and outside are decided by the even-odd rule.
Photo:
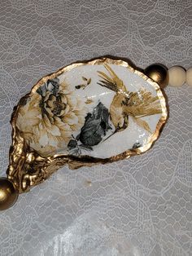
[[[15,115],[16,128],[42,157],[107,159],[151,148],[167,108],[150,78],[123,60],[103,58],[42,78]]]

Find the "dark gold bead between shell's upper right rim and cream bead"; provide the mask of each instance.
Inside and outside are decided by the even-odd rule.
[[[168,86],[168,71],[162,64],[152,64],[145,69],[145,74],[157,82],[161,88]]]

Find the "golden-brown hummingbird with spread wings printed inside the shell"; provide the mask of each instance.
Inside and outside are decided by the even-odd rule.
[[[110,106],[110,118],[115,126],[115,131],[119,132],[129,126],[129,117],[148,132],[151,132],[150,126],[142,117],[161,113],[158,96],[153,96],[151,92],[140,89],[137,92],[130,92],[124,82],[116,75],[108,64],[104,64],[108,74],[98,71],[98,85],[113,90],[116,95],[113,97]]]

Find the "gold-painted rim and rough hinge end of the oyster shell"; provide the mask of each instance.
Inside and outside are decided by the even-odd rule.
[[[82,65],[100,65],[100,64],[116,64],[128,68],[132,73],[136,73],[139,77],[142,77],[146,82],[150,83],[157,92],[159,102],[161,105],[162,113],[161,118],[156,126],[155,133],[150,137],[149,143],[141,148],[129,149],[119,155],[109,158],[95,158],[95,157],[73,157],[70,155],[55,155],[53,157],[41,157],[40,154],[34,151],[32,148],[29,148],[28,144],[24,141],[22,133],[15,126],[18,113],[20,111],[20,106],[25,99],[28,99],[33,95],[36,90],[44,84],[48,79],[54,79],[58,77],[61,73],[66,73],[72,68],[76,68]],[[30,188],[36,186],[38,183],[43,182],[45,179],[48,179],[51,174],[58,170],[61,166],[68,164],[70,169],[77,169],[81,166],[94,166],[96,164],[106,164],[113,161],[119,161],[124,158],[129,158],[134,155],[141,154],[146,152],[147,149],[151,148],[152,143],[159,136],[159,132],[167,120],[168,112],[166,108],[166,101],[162,91],[160,90],[158,84],[153,82],[151,78],[146,77],[144,73],[133,68],[131,64],[124,60],[116,60],[107,57],[85,61],[77,62],[74,64],[69,64],[68,66],[59,69],[56,73],[52,73],[46,77],[41,78],[35,86],[33,86],[31,92],[28,95],[25,95],[20,99],[19,104],[15,107],[14,112],[11,117],[11,126],[12,126],[12,144],[10,148],[10,165],[7,169],[7,177],[11,179],[14,183],[15,188],[18,189],[20,193],[28,192]]]

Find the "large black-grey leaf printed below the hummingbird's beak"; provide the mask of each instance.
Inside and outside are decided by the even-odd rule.
[[[108,109],[100,102],[94,108],[93,113],[88,113],[85,117],[85,124],[79,136],[81,143],[90,147],[100,143],[107,130],[111,129],[108,121]]]

